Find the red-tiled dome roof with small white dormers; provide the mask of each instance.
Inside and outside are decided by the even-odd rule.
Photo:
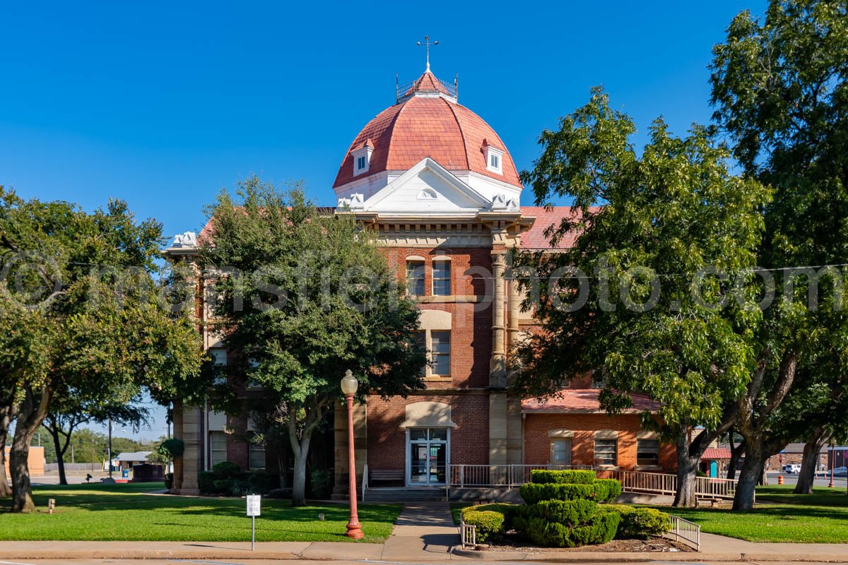
[[[360,131],[344,155],[333,188],[386,170],[407,170],[425,157],[448,170],[471,170],[522,187],[516,165],[503,141],[477,114],[448,99],[449,92],[429,71],[404,93],[404,100],[386,108]],[[414,96],[427,92],[427,96]],[[409,96],[413,95],[413,96]],[[371,143],[368,171],[354,176],[354,150]],[[486,168],[483,146],[504,151],[497,174]]]

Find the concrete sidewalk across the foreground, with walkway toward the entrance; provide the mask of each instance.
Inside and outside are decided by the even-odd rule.
[[[407,504],[385,544],[352,542],[0,541],[0,561],[35,559],[304,559],[448,562],[848,562],[848,544],[751,543],[701,534],[701,551],[469,551],[445,502]]]

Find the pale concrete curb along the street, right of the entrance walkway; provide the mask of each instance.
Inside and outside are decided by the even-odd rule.
[[[456,548],[452,553],[478,561],[491,562],[549,562],[549,563],[639,563],[639,562],[817,562],[844,563],[845,558],[834,555],[816,556],[810,553],[702,553],[700,551],[477,551]]]

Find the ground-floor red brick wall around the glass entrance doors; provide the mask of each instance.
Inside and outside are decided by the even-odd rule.
[[[413,402],[444,402],[451,407],[456,427],[450,431],[450,463],[488,463],[488,396],[393,396],[388,401],[368,397],[368,466],[372,469],[405,468],[405,407]]]

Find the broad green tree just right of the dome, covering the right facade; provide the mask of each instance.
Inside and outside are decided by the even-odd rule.
[[[678,138],[657,119],[641,156],[634,130],[595,88],[559,130],[542,133],[542,155],[522,173],[538,204],[573,198],[574,219],[550,236],[577,239],[519,261],[538,275],[523,283],[538,292],[542,327],[521,348],[513,388],[546,396],[596,371],[612,413],[633,392],[649,396],[660,406],[643,425],[677,448],[674,504],[694,506],[700,456],[734,423],[750,379],[748,328],[759,311],[737,300],[734,281],[756,264],[768,191],[731,174],[728,149],[702,127]],[[705,432],[689,440],[696,426]]]

